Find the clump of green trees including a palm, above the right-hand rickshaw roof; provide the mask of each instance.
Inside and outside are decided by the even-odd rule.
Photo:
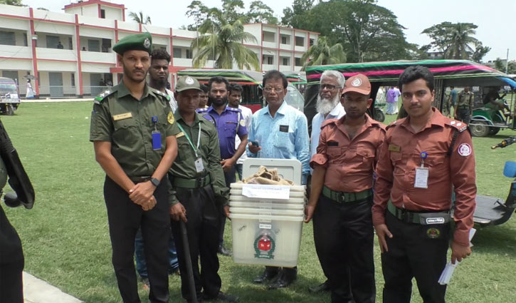
[[[488,52],[485,51],[486,48],[482,46],[482,43],[473,37],[477,28],[478,26],[472,23],[459,22],[453,24],[446,21],[425,29],[421,34],[427,34],[433,40],[430,45],[443,51],[444,58],[448,59],[473,58],[476,50],[473,50],[471,46],[480,46],[475,58],[473,58],[475,60],[479,57],[482,58]]]

